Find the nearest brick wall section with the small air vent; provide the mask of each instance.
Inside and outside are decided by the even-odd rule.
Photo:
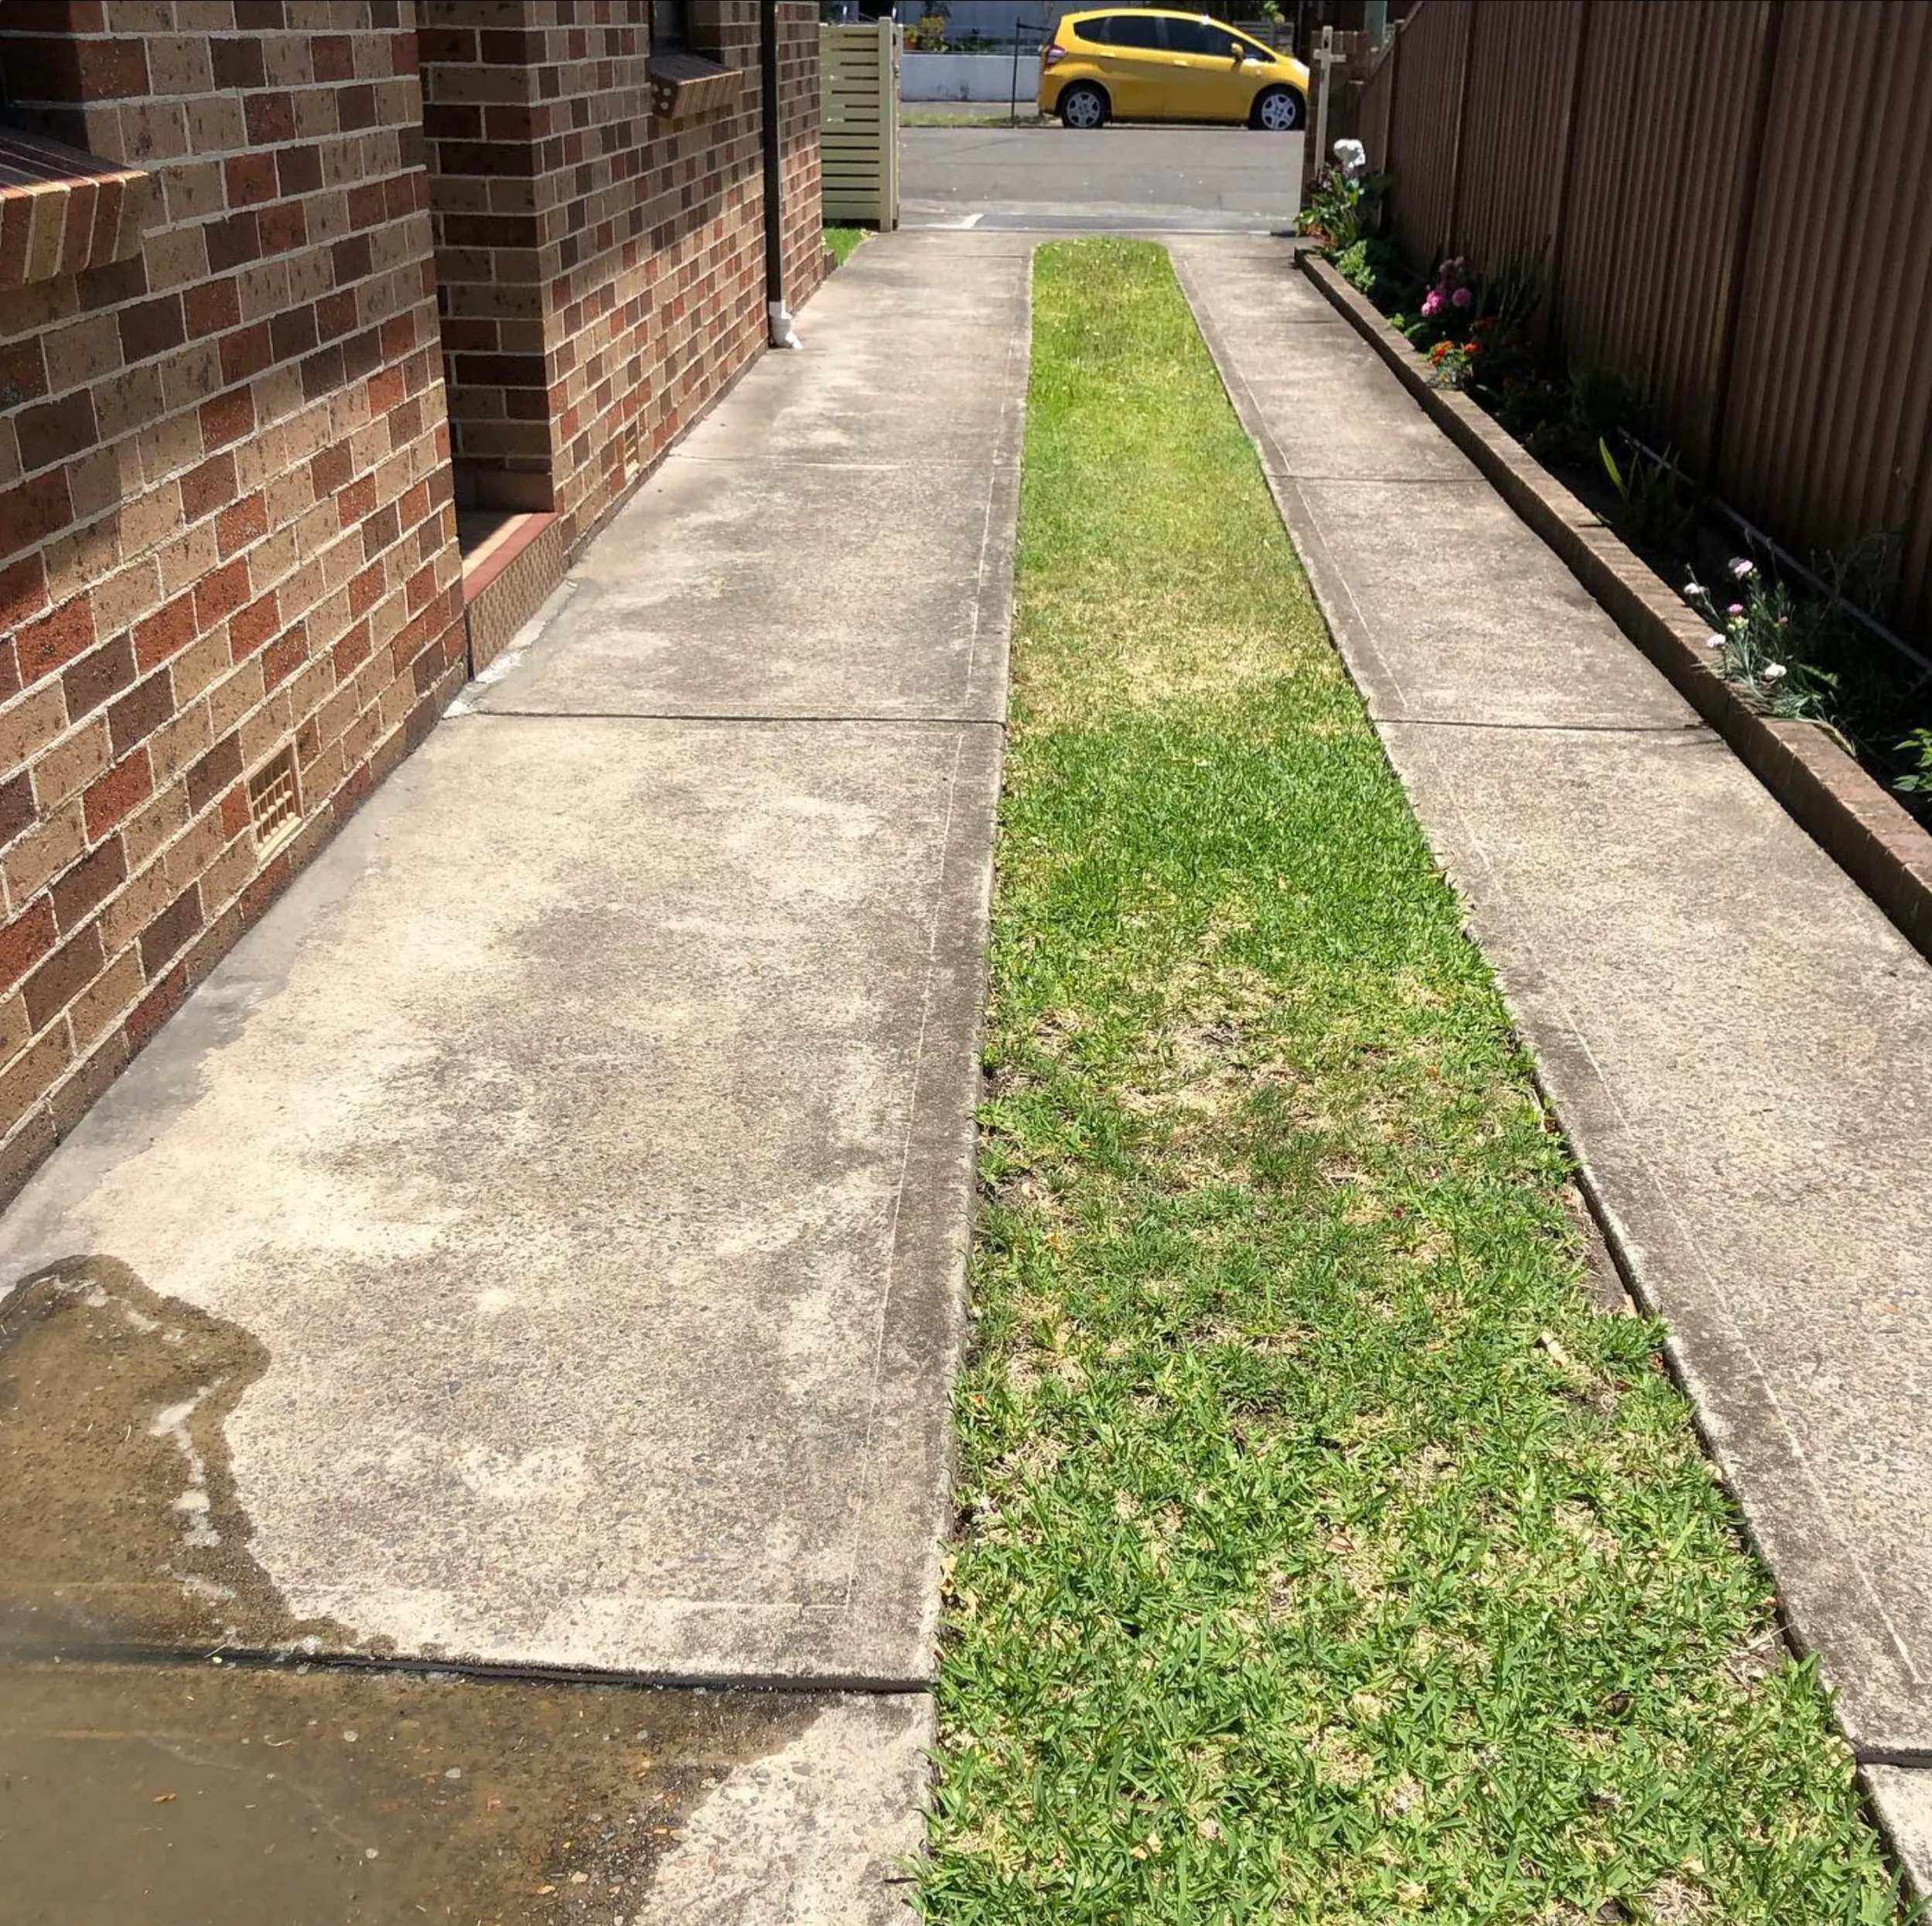
[[[0,294],[4,1192],[427,728],[462,610],[404,10],[8,0],[0,77],[162,203]]]

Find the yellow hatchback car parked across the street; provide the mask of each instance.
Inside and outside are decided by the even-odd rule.
[[[1289,133],[1308,114],[1308,68],[1206,14],[1066,14],[1039,50],[1039,112],[1109,120],[1225,120]]]

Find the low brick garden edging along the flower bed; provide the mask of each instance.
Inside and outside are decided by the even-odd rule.
[[[1368,296],[1314,253],[1300,267],[1793,821],[1932,958],[1932,833],[1822,728],[1748,709],[1708,665],[1710,624],[1466,394],[1437,388]]]

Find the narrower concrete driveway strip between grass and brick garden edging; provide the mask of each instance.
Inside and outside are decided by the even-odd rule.
[[[1932,968],[1285,245],[1175,253],[1797,1632],[1926,1827],[1882,1762],[1932,1766]]]

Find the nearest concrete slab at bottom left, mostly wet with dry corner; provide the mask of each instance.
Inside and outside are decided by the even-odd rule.
[[[925,1698],[15,1665],[4,1914],[885,1926],[929,1742]]]

